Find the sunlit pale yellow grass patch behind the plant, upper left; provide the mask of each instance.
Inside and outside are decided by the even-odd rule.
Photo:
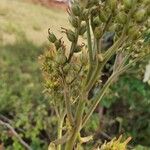
[[[41,45],[47,41],[48,28],[62,36],[59,30],[60,26],[68,27],[67,13],[25,0],[0,0],[0,25],[0,41],[4,43],[13,43],[16,35],[25,34],[28,40]]]

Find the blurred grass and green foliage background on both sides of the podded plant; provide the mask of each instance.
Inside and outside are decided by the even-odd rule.
[[[60,27],[68,25],[67,13],[60,7],[0,0],[0,119],[11,124],[33,150],[47,149],[56,133],[53,108],[42,93],[38,57],[48,45],[48,28],[61,37]],[[135,150],[150,150],[150,85],[143,83],[146,63],[122,76],[100,104],[106,109],[104,132],[111,137],[131,136]],[[97,130],[99,119],[95,113],[84,132]],[[2,145],[6,150],[24,150],[0,126]]]

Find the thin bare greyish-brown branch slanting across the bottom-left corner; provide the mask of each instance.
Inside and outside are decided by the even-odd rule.
[[[2,120],[0,120],[0,125],[7,127],[8,129],[11,130],[13,135],[18,139],[18,141],[27,149],[27,150],[32,150],[32,148],[18,135],[18,133],[15,131],[15,129],[9,124],[6,123]]]

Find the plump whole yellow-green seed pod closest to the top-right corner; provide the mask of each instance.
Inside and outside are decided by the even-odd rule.
[[[134,15],[135,20],[139,23],[142,22],[145,17],[146,17],[146,10],[144,8],[139,9]]]

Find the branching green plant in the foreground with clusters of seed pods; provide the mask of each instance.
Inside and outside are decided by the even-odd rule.
[[[68,14],[73,28],[62,32],[70,49],[49,30],[51,46],[40,57],[45,91],[58,118],[57,138],[49,149],[57,150],[73,150],[92,140],[81,137],[81,130],[110,85],[150,55],[150,44],[143,38],[150,28],[149,0],[74,0]],[[79,44],[83,34],[86,43]],[[111,75],[102,84],[104,67],[112,58]],[[99,89],[89,99],[95,84]]]

